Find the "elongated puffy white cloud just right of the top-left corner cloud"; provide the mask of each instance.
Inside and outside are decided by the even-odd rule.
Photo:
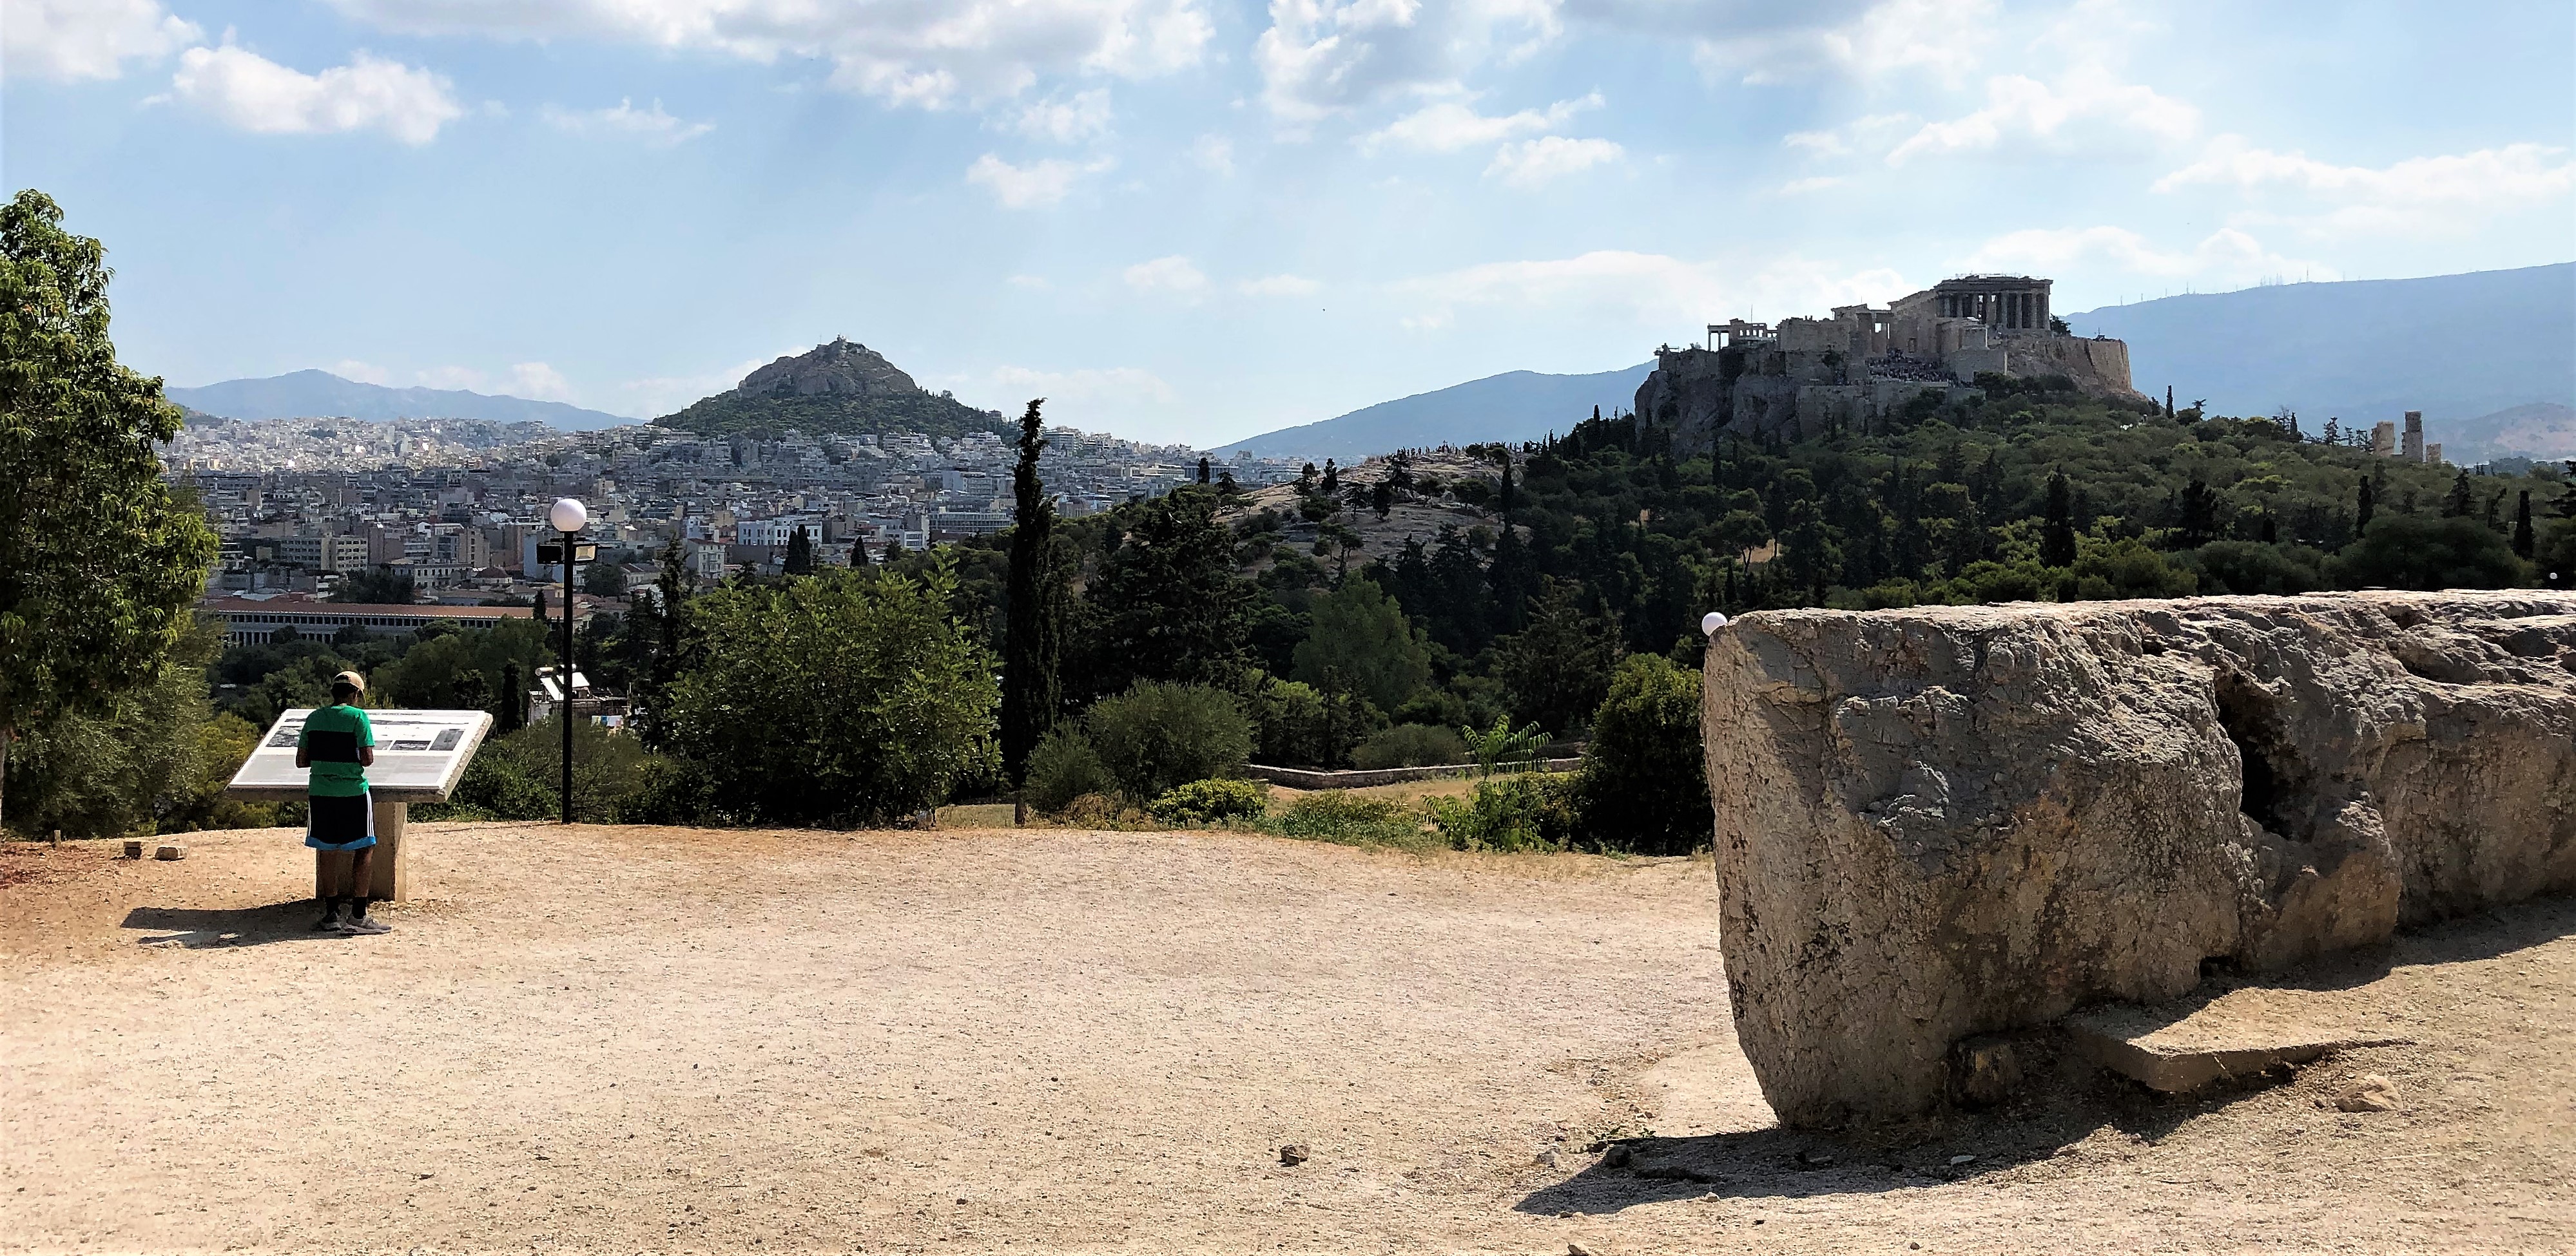
[[[188,49],[170,95],[260,134],[384,131],[428,144],[461,118],[448,80],[361,51],[350,64],[304,75],[250,49]]]

